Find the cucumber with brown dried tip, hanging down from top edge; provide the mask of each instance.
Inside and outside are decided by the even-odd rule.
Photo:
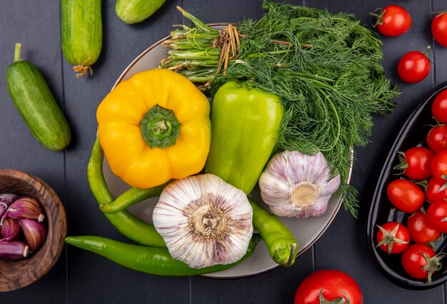
[[[61,0],[61,45],[76,77],[90,71],[101,54],[101,0]]]

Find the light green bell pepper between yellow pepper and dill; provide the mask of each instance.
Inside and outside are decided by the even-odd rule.
[[[273,93],[236,81],[221,86],[213,99],[206,173],[250,193],[276,146],[283,113]]]

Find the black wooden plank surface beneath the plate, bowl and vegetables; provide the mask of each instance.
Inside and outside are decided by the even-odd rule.
[[[358,220],[345,211],[316,245],[288,269],[253,278],[209,280],[161,278],[145,275],[97,255],[67,247],[44,278],[21,290],[0,293],[0,303],[291,303],[298,284],[313,270],[333,268],[349,273],[361,287],[365,303],[446,303],[446,286],[426,291],[398,288],[373,267],[366,249],[366,218],[378,173],[393,138],[413,106],[433,86],[447,81],[447,48],[434,44],[430,34],[432,11],[447,9],[447,0],[303,0],[291,4],[347,11],[371,24],[368,11],[388,4],[405,6],[413,18],[410,31],[383,38],[386,74],[402,91],[389,116],[375,116],[371,143],[357,148],[351,183],[359,191]],[[104,44],[92,78],[76,79],[61,54],[59,4],[56,0],[0,0],[0,168],[23,170],[43,178],[64,202],[69,235],[124,238],[101,215],[86,180],[86,164],[96,133],[95,112],[116,78],[141,51],[166,36],[171,24],[184,19],[183,6],[206,22],[258,19],[261,0],[167,0],[150,19],[129,26],[115,14],[115,1],[103,1]],[[36,64],[64,109],[73,141],[64,152],[51,152],[32,138],[6,91],[4,75],[14,57],[14,43],[22,43],[22,57]],[[433,69],[421,83],[399,81],[396,66],[407,51],[431,45]]]

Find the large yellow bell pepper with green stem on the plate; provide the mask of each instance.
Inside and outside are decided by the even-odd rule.
[[[96,112],[111,170],[136,188],[159,186],[204,168],[211,141],[209,101],[167,69],[119,83]]]

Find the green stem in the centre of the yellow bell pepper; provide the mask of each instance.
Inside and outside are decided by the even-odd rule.
[[[167,148],[179,138],[180,126],[174,111],[156,104],[141,119],[141,136],[151,148]]]

